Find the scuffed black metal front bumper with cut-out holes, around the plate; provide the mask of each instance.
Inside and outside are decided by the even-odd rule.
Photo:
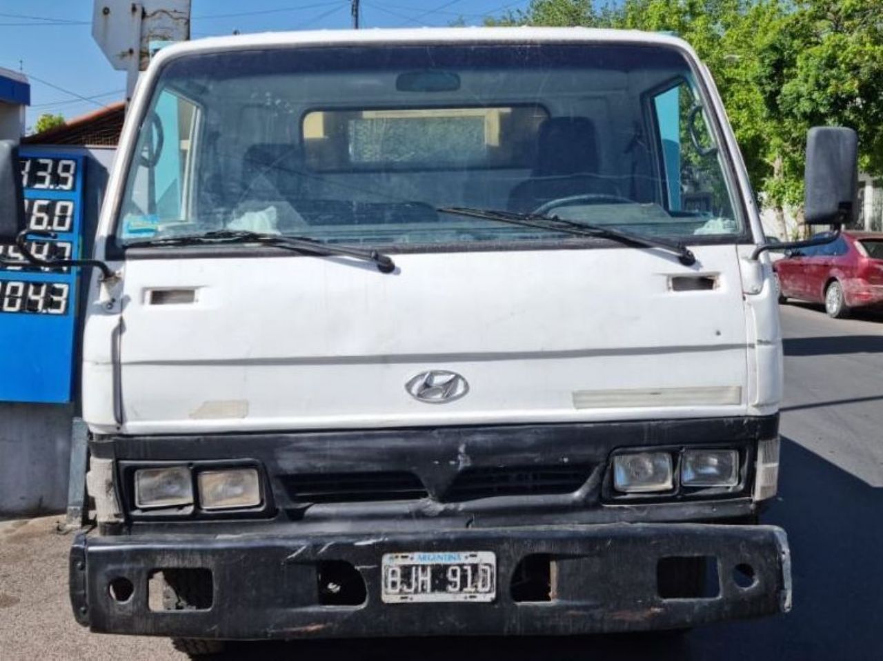
[[[497,597],[490,604],[381,602],[381,556],[387,552],[493,551]],[[511,584],[518,563],[540,554],[551,561],[550,595],[517,602]],[[662,598],[660,559],[717,560],[719,596]],[[366,587],[362,605],[322,605],[319,567],[349,563]],[[753,583],[739,587],[736,566]],[[205,610],[148,607],[147,582],[157,569],[211,571]],[[431,534],[333,535],[80,535],[71,552],[71,600],[80,624],[95,632],[219,639],[380,635],[571,635],[691,627],[751,618],[790,607],[785,533],[770,526],[605,524]],[[124,603],[109,594],[123,577],[134,590]]]

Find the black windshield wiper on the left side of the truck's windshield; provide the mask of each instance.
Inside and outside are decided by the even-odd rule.
[[[282,234],[264,234],[247,229],[215,229],[204,234],[185,234],[179,237],[160,237],[126,244],[127,248],[161,245],[262,244],[275,248],[306,252],[313,255],[343,255],[372,261],[381,273],[392,273],[396,263],[389,255],[375,250],[353,248],[349,245],[327,244],[309,237],[287,237]]]

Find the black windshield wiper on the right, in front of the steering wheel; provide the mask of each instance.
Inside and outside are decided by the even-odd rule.
[[[540,214],[519,214],[515,211],[502,211],[498,209],[478,209],[472,207],[438,207],[435,209],[442,214],[456,214],[481,218],[487,221],[509,222],[512,225],[522,225],[538,229],[549,229],[556,232],[566,232],[577,237],[608,238],[623,244],[639,245],[645,248],[661,248],[668,252],[674,252],[677,259],[686,267],[696,263],[696,255],[685,245],[677,241],[658,237],[645,237],[632,234],[623,229],[613,229],[601,225],[590,225],[585,222],[565,221],[558,216]]]

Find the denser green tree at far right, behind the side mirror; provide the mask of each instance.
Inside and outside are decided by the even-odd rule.
[[[765,191],[776,202],[803,198],[804,136],[811,126],[849,126],[859,166],[883,175],[883,11],[879,0],[805,0],[758,50],[758,86],[774,118],[774,172]]]

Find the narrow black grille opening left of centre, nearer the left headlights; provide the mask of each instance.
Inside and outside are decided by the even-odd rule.
[[[428,495],[419,477],[406,471],[289,475],[283,484],[295,503],[419,500]]]

